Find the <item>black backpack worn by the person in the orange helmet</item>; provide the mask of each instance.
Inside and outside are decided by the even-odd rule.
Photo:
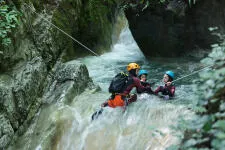
[[[122,93],[128,82],[128,75],[124,72],[118,73],[111,81],[109,86],[110,93]]]

